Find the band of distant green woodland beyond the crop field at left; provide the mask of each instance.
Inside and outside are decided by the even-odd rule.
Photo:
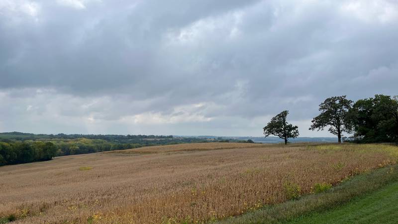
[[[21,132],[0,133],[0,139],[0,166],[50,160],[54,156],[212,141],[194,137],[174,138],[172,135],[44,135]]]

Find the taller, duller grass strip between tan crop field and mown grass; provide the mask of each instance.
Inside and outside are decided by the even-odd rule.
[[[309,220],[304,220],[306,215],[314,214],[316,217],[316,213],[339,208],[350,201],[366,197],[366,194],[379,190],[390,183],[398,182],[397,170],[398,165],[380,168],[370,173],[355,176],[324,193],[311,194],[299,200],[288,201],[273,206],[265,206],[260,210],[249,212],[238,217],[230,217],[218,221],[218,223],[268,224],[299,222],[300,220],[303,222],[311,222],[310,218]],[[374,216],[379,215],[374,214]],[[318,217],[318,219],[323,218]],[[314,220],[314,222],[316,222],[316,220]]]

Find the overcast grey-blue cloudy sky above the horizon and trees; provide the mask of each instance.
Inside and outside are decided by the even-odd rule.
[[[300,136],[398,95],[398,0],[0,0],[0,132]]]

